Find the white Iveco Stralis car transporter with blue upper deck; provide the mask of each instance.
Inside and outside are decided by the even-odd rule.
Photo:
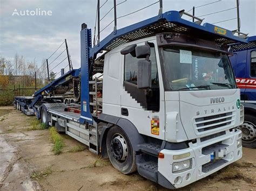
[[[118,171],[137,170],[166,188],[184,187],[240,159],[235,128],[244,113],[227,44],[246,41],[200,20],[188,22],[183,13],[115,30],[95,47],[83,24],[81,105],[44,103],[38,118],[109,158]]]

